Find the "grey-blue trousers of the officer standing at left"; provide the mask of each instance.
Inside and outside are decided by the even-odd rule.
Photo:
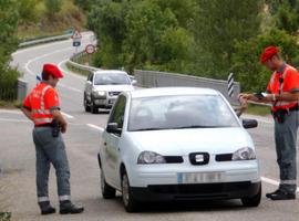
[[[70,168],[61,134],[53,137],[52,127],[34,127],[33,141],[37,150],[38,202],[50,201],[48,192],[50,164],[55,168],[60,201],[70,200]]]

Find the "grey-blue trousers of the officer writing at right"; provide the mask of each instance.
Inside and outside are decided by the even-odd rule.
[[[279,188],[285,192],[291,193],[295,193],[297,189],[296,141],[298,126],[299,112],[290,112],[282,124],[275,119],[276,152],[280,170]]]

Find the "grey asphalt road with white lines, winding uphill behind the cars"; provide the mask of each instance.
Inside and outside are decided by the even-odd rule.
[[[83,46],[90,43],[91,33],[83,34]],[[82,50],[83,48],[81,48]],[[239,200],[147,204],[140,213],[130,214],[123,209],[120,196],[113,200],[101,198],[100,171],[96,154],[101,130],[107,113],[92,115],[83,109],[84,78],[65,70],[64,62],[74,53],[71,41],[49,43],[20,50],[13,54],[12,65],[24,73],[30,88],[35,74],[44,63],[59,64],[65,73],[59,84],[62,110],[69,122],[64,135],[70,166],[72,199],[85,206],[85,212],[76,215],[53,214],[41,217],[37,206],[34,181],[34,146],[32,123],[19,110],[0,109],[0,212],[12,212],[12,220],[277,220],[299,221],[299,200],[272,202],[265,193],[277,188],[278,168],[274,147],[274,124],[260,118],[259,127],[250,129],[260,159],[264,196],[258,208],[243,208]],[[299,167],[298,167],[299,170]],[[54,170],[50,176],[50,198],[56,208]],[[299,178],[299,177],[298,177]],[[299,179],[298,179],[299,180]],[[299,186],[299,182],[298,182]],[[299,196],[298,196],[299,197]]]

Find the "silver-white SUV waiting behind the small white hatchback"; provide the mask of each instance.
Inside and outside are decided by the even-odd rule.
[[[86,80],[83,104],[85,112],[96,114],[99,108],[111,108],[122,92],[134,90],[128,74],[123,71],[101,70],[92,72]]]

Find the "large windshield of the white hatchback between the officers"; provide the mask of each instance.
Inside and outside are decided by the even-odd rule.
[[[239,127],[219,95],[184,95],[133,98],[128,131]]]

